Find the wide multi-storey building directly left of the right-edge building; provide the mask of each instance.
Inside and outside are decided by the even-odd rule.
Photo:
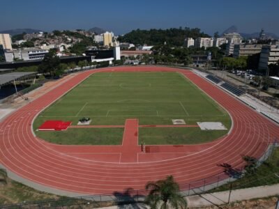
[[[234,58],[239,56],[249,56],[262,51],[262,45],[238,44],[234,45]]]

